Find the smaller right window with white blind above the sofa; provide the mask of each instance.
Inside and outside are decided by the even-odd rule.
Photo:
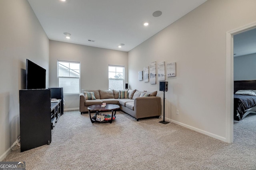
[[[108,88],[111,90],[124,89],[124,66],[108,65]]]

